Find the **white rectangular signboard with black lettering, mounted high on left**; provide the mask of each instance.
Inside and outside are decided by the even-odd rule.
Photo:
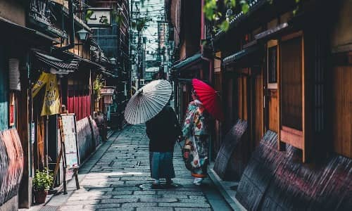
[[[111,27],[111,8],[89,8],[87,25],[89,27]]]

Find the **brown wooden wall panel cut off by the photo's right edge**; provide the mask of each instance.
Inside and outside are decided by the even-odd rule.
[[[352,66],[334,68],[333,74],[334,151],[352,158]]]

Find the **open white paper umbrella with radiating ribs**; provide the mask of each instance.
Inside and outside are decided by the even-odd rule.
[[[163,79],[146,84],[127,103],[125,120],[142,124],[155,117],[170,100],[171,89],[171,84]]]

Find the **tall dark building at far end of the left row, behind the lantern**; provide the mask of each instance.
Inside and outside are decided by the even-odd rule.
[[[124,122],[125,107],[130,98],[130,56],[129,56],[129,27],[130,7],[129,1],[100,1],[90,0],[89,6],[111,11],[111,24],[94,28],[92,37],[96,40],[108,60],[113,59],[111,65],[112,75],[106,75],[105,85],[115,87],[116,97],[108,107],[114,110],[109,121],[111,127],[122,128]],[[113,109],[114,108],[114,109]],[[103,109],[103,113],[110,111]],[[110,115],[109,115],[110,116]]]

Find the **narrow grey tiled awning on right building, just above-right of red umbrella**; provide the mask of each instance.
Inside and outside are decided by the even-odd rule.
[[[252,60],[253,57],[256,56],[256,53],[260,53],[260,45],[258,44],[250,46],[246,49],[242,49],[241,51],[238,51],[231,56],[227,56],[222,60],[222,63],[224,65],[230,65],[232,63],[240,63],[242,61]]]

